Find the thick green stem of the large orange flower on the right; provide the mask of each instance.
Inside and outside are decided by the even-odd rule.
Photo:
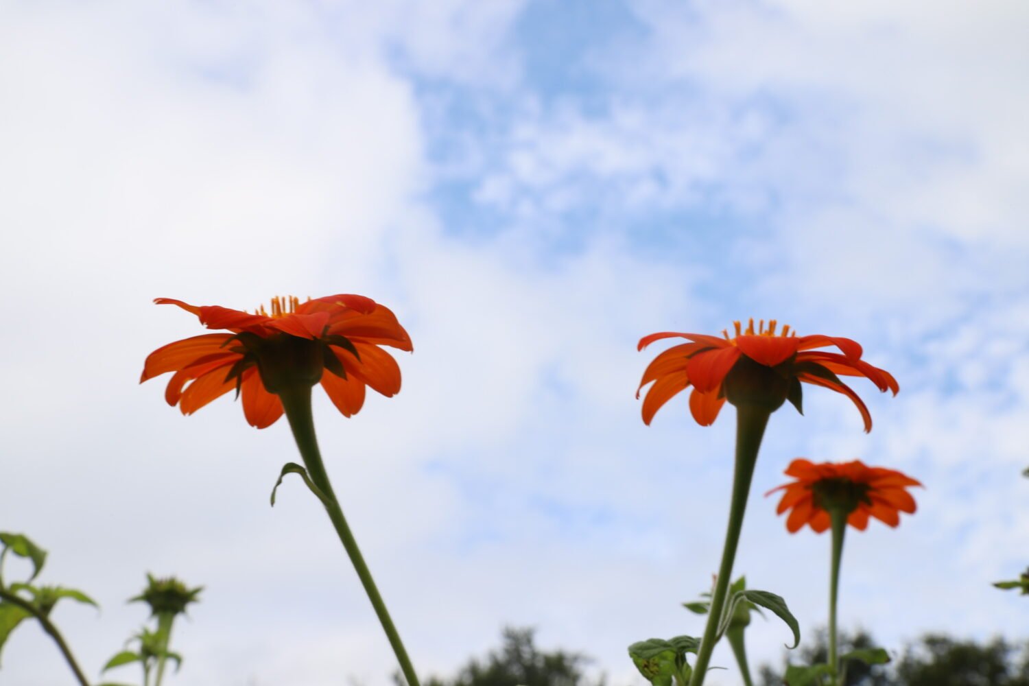
[[[771,410],[759,405],[740,404],[736,408],[736,468],[733,473],[733,500],[729,506],[725,546],[721,551],[721,566],[718,568],[718,578],[708,610],[707,626],[704,629],[704,638],[701,639],[697,665],[694,667],[689,686],[701,686],[704,683],[711,652],[717,642],[718,621],[721,619],[722,607],[725,604],[729,580],[733,575],[736,547],[740,542],[743,514],[747,509],[747,496],[750,494],[750,480],[754,475],[757,450],[761,446],[761,437],[765,435],[765,427],[768,426],[771,414]]]

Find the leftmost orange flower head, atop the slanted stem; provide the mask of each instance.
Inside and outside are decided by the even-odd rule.
[[[176,340],[150,353],[140,383],[174,371],[165,391],[168,404],[191,414],[236,389],[251,426],[263,429],[282,417],[276,393],[294,383],[321,383],[346,417],[364,403],[364,387],[389,397],[400,390],[400,368],[380,346],[411,351],[411,338],[387,308],[361,295],[328,295],[300,302],[272,300],[272,314],[218,305],[197,306],[171,298],[200,318],[208,333]],[[323,373],[327,370],[330,373]]]

